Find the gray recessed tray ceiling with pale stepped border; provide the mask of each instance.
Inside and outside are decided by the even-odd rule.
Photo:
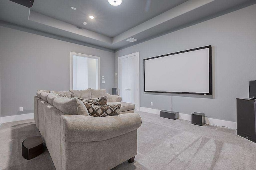
[[[34,0],[33,7],[26,8],[1,0],[0,25],[118,50],[255,3],[255,0],[123,0],[120,6],[111,6],[107,0]],[[95,19],[89,19],[90,15]],[[83,21],[88,24],[82,25]],[[138,41],[126,41],[130,37]]]

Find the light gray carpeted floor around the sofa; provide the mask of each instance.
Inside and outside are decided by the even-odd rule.
[[[113,170],[252,170],[256,168],[256,143],[224,127],[191,125],[190,121],[171,120],[138,112],[138,154]],[[26,137],[40,135],[34,120],[3,123],[0,127],[0,170],[55,169],[46,149],[26,160],[21,143]]]

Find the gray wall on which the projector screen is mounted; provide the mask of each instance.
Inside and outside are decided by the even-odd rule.
[[[236,121],[236,98],[248,98],[248,81],[255,80],[256,5],[122,49],[117,57],[140,52],[140,106]],[[213,46],[213,95],[150,94],[143,92],[143,59]],[[186,82],[184,82],[186,83]],[[150,106],[153,102],[153,106]]]

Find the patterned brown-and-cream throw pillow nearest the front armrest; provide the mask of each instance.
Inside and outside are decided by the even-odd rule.
[[[90,116],[104,117],[120,114],[121,105],[93,105],[83,102]]]

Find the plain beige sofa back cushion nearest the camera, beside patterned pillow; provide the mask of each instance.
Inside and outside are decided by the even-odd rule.
[[[77,98],[66,98],[66,97],[56,97],[53,100],[53,106],[68,115],[86,115],[89,113],[84,106],[83,102]]]

